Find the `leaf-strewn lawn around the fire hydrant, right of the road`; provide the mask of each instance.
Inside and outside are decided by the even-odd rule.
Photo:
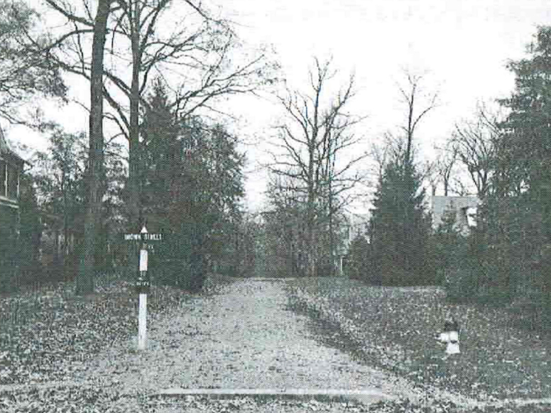
[[[551,337],[520,328],[514,312],[449,304],[436,287],[369,287],[331,278],[287,285],[294,309],[329,323],[356,356],[412,380],[431,397],[452,392],[486,406],[512,402],[519,411],[537,404],[521,408],[515,400],[551,397]],[[446,312],[462,328],[462,352],[449,358],[436,339]]]

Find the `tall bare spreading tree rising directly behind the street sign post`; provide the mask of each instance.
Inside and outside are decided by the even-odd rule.
[[[84,53],[86,37],[92,32],[91,13],[83,1],[78,14],[62,0],[46,0],[50,7],[67,18],[68,30],[50,43],[50,50],[58,64],[67,72],[90,79],[92,65]],[[106,114],[121,129],[129,141],[129,192],[130,230],[142,224],[139,197],[139,171],[141,163],[140,106],[146,104],[148,79],[153,70],[171,72],[179,77],[174,83],[175,112],[185,119],[200,108],[212,109],[212,101],[222,95],[248,93],[264,81],[264,57],[260,55],[243,64],[232,64],[231,52],[239,47],[231,25],[222,19],[212,18],[200,4],[186,0],[192,16],[176,25],[172,33],[163,35],[157,30],[163,24],[163,14],[170,9],[170,0],[113,1],[116,6],[107,14],[112,17],[105,26],[111,35],[107,49],[110,65],[103,67],[106,84],[103,97],[111,106]],[[109,4],[112,2],[110,1]],[[107,10],[107,9],[106,9]],[[191,28],[191,29],[190,29]],[[190,30],[188,30],[190,29]],[[131,76],[126,75],[127,62],[131,61]],[[268,79],[271,82],[272,79]],[[116,91],[114,90],[116,89]],[[119,97],[122,97],[119,99]],[[126,111],[124,99],[128,101]],[[92,180],[94,182],[94,180]],[[92,226],[89,227],[92,231]],[[131,262],[137,258],[132,254]],[[136,264],[137,263],[133,263]],[[133,267],[134,265],[131,264]]]

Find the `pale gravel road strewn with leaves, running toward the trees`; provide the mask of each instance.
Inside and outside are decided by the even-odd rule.
[[[417,398],[405,380],[320,344],[308,320],[287,309],[283,281],[247,279],[148,320],[148,348],[119,343],[80,380],[129,394],[178,389],[361,390]]]

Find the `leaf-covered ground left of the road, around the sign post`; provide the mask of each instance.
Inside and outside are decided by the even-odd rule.
[[[209,282],[206,295],[226,283]],[[116,391],[65,385],[67,378],[84,375],[100,353],[136,335],[133,285],[109,276],[97,280],[92,295],[77,297],[74,290],[73,282],[55,282],[0,295],[0,412],[95,412],[111,404],[124,412],[136,404]],[[153,286],[148,319],[162,318],[190,298]]]

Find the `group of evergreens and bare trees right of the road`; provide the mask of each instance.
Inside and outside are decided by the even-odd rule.
[[[550,50],[551,28],[542,26],[527,56],[508,62],[511,95],[459,121],[434,162],[408,162],[407,133],[388,137],[375,152],[381,166],[368,229],[351,244],[352,276],[375,285],[440,284],[462,302],[525,302],[536,310],[535,326],[549,326]],[[430,231],[424,187],[434,195],[437,186],[479,199],[468,234],[451,210]]]

